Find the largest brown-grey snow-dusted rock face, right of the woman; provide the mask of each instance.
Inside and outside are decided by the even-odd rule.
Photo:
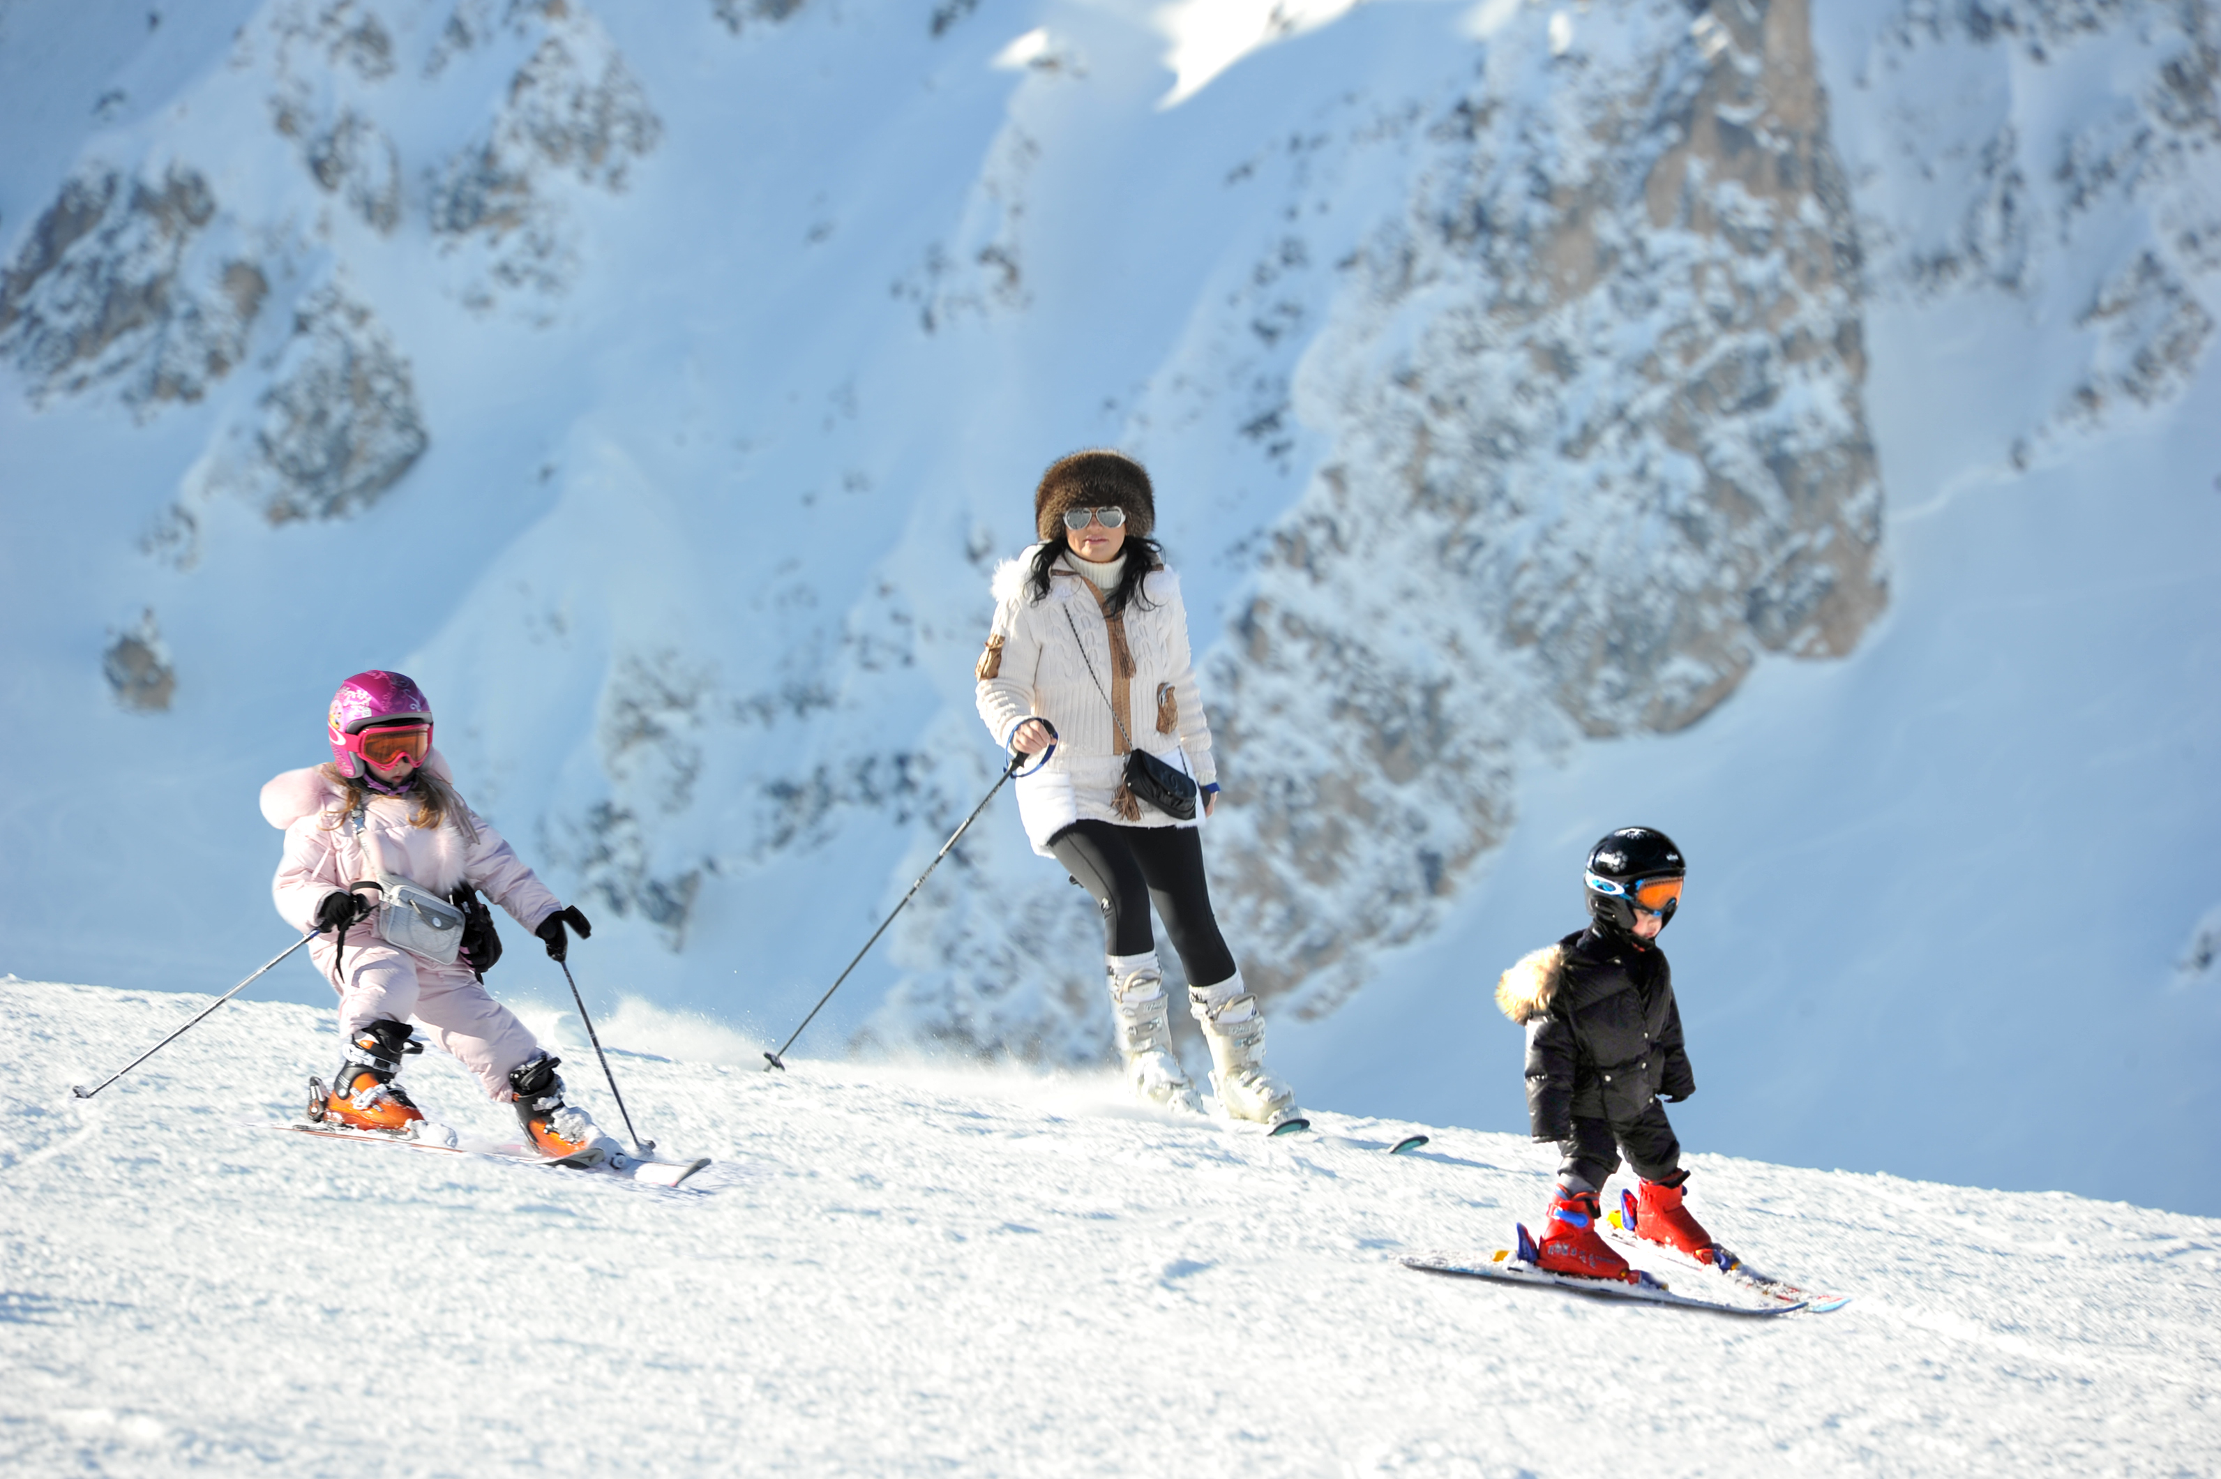
[[[1886,600],[1803,2],[1550,36],[1413,122],[1297,378],[1333,444],[1215,666],[1253,973],[1328,968],[1310,1006],[1455,895],[1521,742],[1684,728]]]

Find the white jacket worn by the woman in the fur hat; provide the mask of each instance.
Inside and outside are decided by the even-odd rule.
[[[995,744],[1008,748],[1011,735],[1031,717],[1048,720],[1057,731],[1057,748],[1048,762],[1017,779],[1017,811],[1033,851],[1046,857],[1048,839],[1079,819],[1197,826],[1202,806],[1195,822],[1175,822],[1146,802],[1142,817],[1130,822],[1113,806],[1126,755],[1110,720],[1110,631],[1093,584],[1062,557],[1051,569],[1048,595],[1039,602],[1031,597],[1026,573],[1035,549],[1039,546],[995,571],[988,648],[997,653],[995,640],[1002,640],[999,666],[977,688],[979,717]],[[1126,715],[1133,744],[1208,786],[1217,779],[1210,724],[1204,720],[1204,695],[1195,686],[1195,660],[1188,653],[1188,608],[1179,600],[1179,577],[1170,571],[1153,571],[1142,582],[1142,600],[1126,606],[1126,648],[1135,664]],[[1179,711],[1168,735],[1157,733],[1157,691],[1164,684],[1170,684]]]

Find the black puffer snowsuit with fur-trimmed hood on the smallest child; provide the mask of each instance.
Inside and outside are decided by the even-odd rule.
[[[1535,1139],[1561,1141],[1568,1168],[1597,1186],[1619,1164],[1612,1141],[1646,1179],[1677,1168],[1681,1146],[1657,1099],[1690,1097],[1697,1075],[1664,950],[1590,926],[1506,970],[1497,1006],[1528,1030]]]

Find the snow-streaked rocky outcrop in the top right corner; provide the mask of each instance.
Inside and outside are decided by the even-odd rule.
[[[1992,84],[1923,87],[1932,73]],[[1999,462],[2023,469],[2174,404],[2221,313],[2221,9],[1908,0],[1857,78],[1897,100],[1857,140],[1888,182],[1861,222],[1872,289],[1921,304],[2003,293],[2030,322],[2083,331],[2048,346],[2077,369]]]

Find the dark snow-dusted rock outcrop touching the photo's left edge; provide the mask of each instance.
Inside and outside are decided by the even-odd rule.
[[[193,402],[247,355],[269,280],[224,251],[207,178],[87,167],[0,275],[0,355],[38,400],[113,384],[140,415]]]

